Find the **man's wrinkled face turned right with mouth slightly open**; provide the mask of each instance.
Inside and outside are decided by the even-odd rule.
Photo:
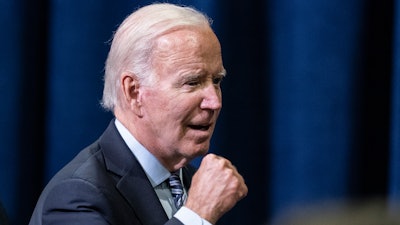
[[[204,155],[222,107],[216,36],[210,29],[168,33],[157,41],[153,67],[155,84],[141,87],[145,146],[161,158]]]

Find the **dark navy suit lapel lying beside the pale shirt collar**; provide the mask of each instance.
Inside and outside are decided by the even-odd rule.
[[[116,188],[145,225],[164,224],[168,217],[145,172],[115,127],[114,120],[99,140],[107,169],[121,178]]]

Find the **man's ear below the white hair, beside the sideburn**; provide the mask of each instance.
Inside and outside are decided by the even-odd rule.
[[[140,84],[137,77],[132,73],[123,73],[121,78],[121,87],[126,106],[136,115],[142,116]]]

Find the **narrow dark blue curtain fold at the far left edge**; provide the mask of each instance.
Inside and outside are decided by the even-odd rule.
[[[4,10],[7,9],[7,10]],[[1,38],[0,45],[0,201],[7,203],[7,209],[14,209],[17,203],[14,196],[17,193],[19,170],[18,147],[18,112],[21,98],[19,84],[23,82],[22,68],[19,66],[22,58],[22,18],[18,16],[21,6],[19,1],[0,1],[0,27],[7,38]],[[13,24],[13,25],[11,25]],[[11,212],[10,212],[11,213]]]

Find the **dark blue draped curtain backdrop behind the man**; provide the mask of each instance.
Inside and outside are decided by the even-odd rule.
[[[48,180],[108,125],[108,41],[151,2],[0,0],[0,202],[12,224],[27,224]],[[169,2],[207,13],[222,43],[211,151],[232,160],[249,195],[219,224],[400,200],[400,0]]]

